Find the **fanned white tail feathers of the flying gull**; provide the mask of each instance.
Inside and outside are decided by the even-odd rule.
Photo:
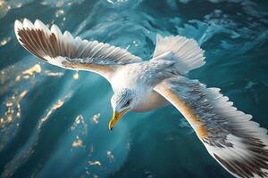
[[[194,39],[184,36],[156,36],[153,60],[174,60],[180,74],[205,64],[204,51]]]

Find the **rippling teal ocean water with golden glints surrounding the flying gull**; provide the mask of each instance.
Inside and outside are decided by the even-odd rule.
[[[157,33],[193,37],[206,64],[188,77],[268,128],[267,1],[0,0],[0,177],[231,177],[172,106],[129,113],[111,133],[108,82],[29,54],[13,32],[23,18],[144,60]]]

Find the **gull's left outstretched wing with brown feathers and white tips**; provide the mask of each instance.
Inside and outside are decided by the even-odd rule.
[[[46,28],[40,20],[15,21],[15,34],[30,53],[55,66],[65,69],[80,69],[96,72],[106,78],[116,65],[141,61],[125,49],[97,41],[73,38],[69,31],[63,34],[56,26]]]

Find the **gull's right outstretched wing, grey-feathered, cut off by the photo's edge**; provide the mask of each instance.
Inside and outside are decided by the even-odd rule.
[[[268,177],[267,131],[232,106],[218,88],[174,77],[155,86],[194,128],[206,150],[236,177]]]

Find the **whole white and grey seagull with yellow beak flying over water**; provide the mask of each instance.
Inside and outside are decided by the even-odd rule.
[[[239,178],[268,177],[267,130],[239,111],[219,88],[186,77],[205,64],[194,39],[156,35],[153,58],[126,49],[73,37],[40,20],[15,20],[20,44],[43,61],[63,69],[85,70],[105,77],[113,88],[110,130],[129,111],[173,105],[188,120],[208,153]]]

